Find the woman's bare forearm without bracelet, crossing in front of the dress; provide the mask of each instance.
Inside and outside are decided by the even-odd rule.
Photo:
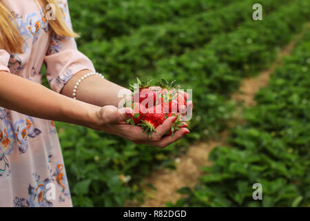
[[[41,84],[0,71],[0,106],[32,117],[82,126],[96,123],[98,106],[56,93]]]

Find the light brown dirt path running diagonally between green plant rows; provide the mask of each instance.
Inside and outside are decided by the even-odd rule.
[[[309,23],[308,23],[309,28]],[[267,86],[271,73],[280,66],[282,58],[287,56],[293,50],[296,41],[302,37],[302,33],[297,35],[290,44],[282,48],[278,53],[276,61],[267,70],[263,70],[257,77],[251,77],[242,80],[238,93],[232,95],[232,100],[240,102],[243,106],[255,105],[254,96],[258,90]],[[240,123],[242,107],[237,108],[234,119],[229,122],[229,127],[234,127],[236,122]],[[193,188],[198,182],[198,178],[202,175],[200,171],[202,166],[208,166],[210,162],[207,160],[210,151],[216,146],[227,145],[227,137],[229,132],[220,133],[218,139],[209,140],[207,143],[198,143],[190,146],[187,153],[176,158],[177,168],[174,171],[164,169],[154,171],[152,175],[145,179],[146,183],[152,184],[154,189],[145,189],[147,193],[145,202],[141,206],[165,206],[165,202],[176,202],[182,195],[176,191],[184,186]],[[127,206],[138,206],[138,204],[130,202]]]

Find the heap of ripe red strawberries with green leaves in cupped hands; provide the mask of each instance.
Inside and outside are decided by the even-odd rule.
[[[138,78],[137,81],[139,90],[132,96],[134,117],[128,119],[127,124],[141,126],[143,133],[146,132],[149,137],[152,136],[152,133],[156,132],[156,127],[163,124],[168,117],[176,116],[177,119],[166,135],[172,135],[173,137],[176,131],[187,126],[180,121],[180,113],[178,113],[180,105],[186,106],[186,99],[176,90],[174,81],[168,83],[162,80],[158,83],[160,87],[152,86],[150,81],[141,82]],[[133,88],[131,85],[131,89]],[[154,105],[149,105],[145,101],[149,97],[152,97]],[[176,113],[172,113],[172,111]]]

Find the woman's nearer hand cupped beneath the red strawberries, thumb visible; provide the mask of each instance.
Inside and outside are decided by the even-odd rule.
[[[174,137],[165,136],[176,120],[176,117],[169,117],[163,124],[156,127],[156,133],[152,133],[152,136],[149,137],[146,133],[143,133],[140,126],[132,126],[126,123],[126,120],[134,115],[131,108],[118,109],[115,106],[103,106],[96,115],[99,119],[96,129],[118,135],[136,144],[148,144],[164,148],[189,133],[187,128],[180,128],[179,131],[174,133]]]

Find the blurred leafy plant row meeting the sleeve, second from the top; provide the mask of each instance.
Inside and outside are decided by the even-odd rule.
[[[202,12],[156,26],[143,26],[132,35],[113,41],[96,39],[84,44],[80,50],[93,58],[101,73],[121,83],[139,73],[143,75],[143,69],[154,68],[158,59],[182,55],[207,44],[219,34],[224,36],[245,21],[253,23],[251,15],[254,3],[257,1],[234,1],[211,12]],[[276,10],[280,3],[280,0],[263,1],[264,16]]]

